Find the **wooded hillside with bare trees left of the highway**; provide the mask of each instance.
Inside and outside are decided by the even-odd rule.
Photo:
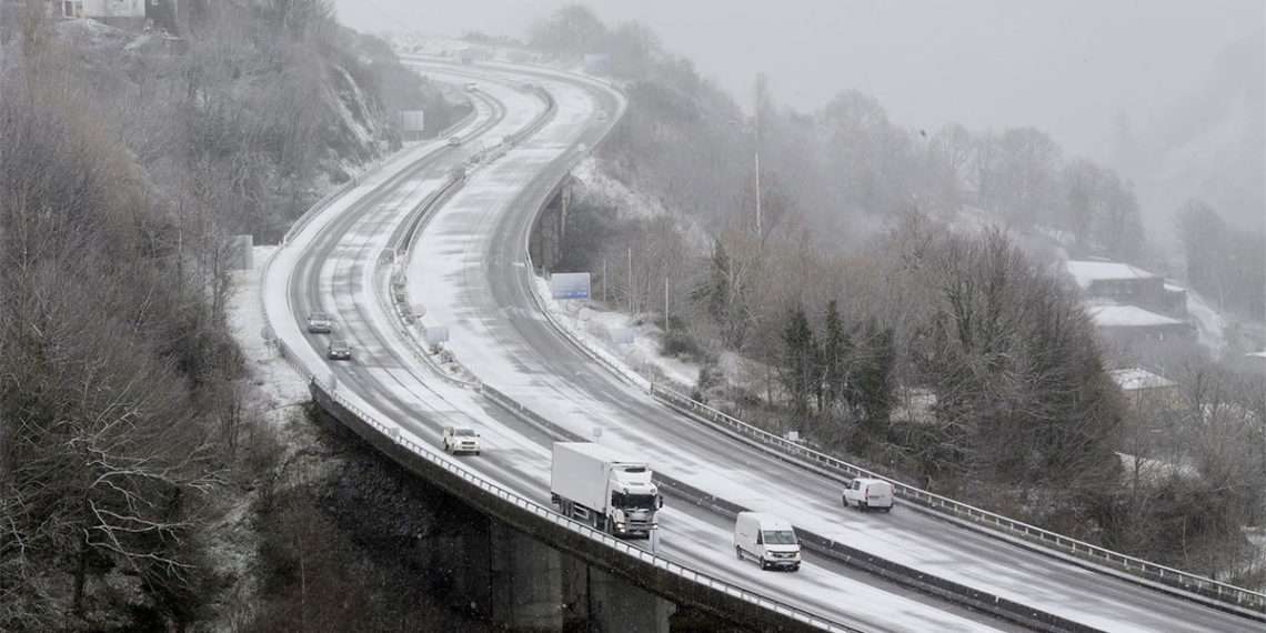
[[[398,147],[395,109],[461,114],[316,4],[191,5],[181,37],[3,5],[4,630],[241,627],[243,586],[289,591],[248,562],[284,471],[227,328],[232,237]]]

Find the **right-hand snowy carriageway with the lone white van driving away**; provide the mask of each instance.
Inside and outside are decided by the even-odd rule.
[[[444,70],[425,68],[433,73]],[[505,75],[513,81],[530,77],[560,104],[558,120],[479,173],[437,211],[408,262],[409,294],[425,305],[424,322],[448,327],[449,349],[481,380],[568,430],[591,437],[601,428],[601,443],[642,453],[656,470],[717,496],[794,518],[798,525],[822,536],[1090,627],[1261,630],[1261,623],[1058,562],[900,506],[890,515],[844,511],[836,481],[705,430],[590,361],[538,314],[530,295],[536,281],[523,252],[533,211],[568,166],[560,154],[598,142],[609,123],[598,122],[595,113],[618,111],[619,97],[594,82],[506,68],[481,71],[486,77]],[[520,472],[528,475],[528,465],[523,466]],[[547,476],[548,457],[538,468]],[[674,546],[677,520],[674,513],[661,522],[665,547]],[[728,538],[725,530],[693,533],[689,548],[710,560],[729,552]],[[812,561],[805,568],[819,565]],[[774,581],[779,592],[772,595],[803,598],[804,587],[789,579],[779,576]],[[846,600],[848,591],[839,589],[836,595]]]

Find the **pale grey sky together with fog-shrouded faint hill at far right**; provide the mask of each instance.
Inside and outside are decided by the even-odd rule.
[[[568,3],[337,4],[346,23],[368,30],[522,37]],[[609,23],[649,25],[744,104],[765,72],[776,99],[803,111],[858,89],[904,127],[1037,127],[1133,180],[1162,242],[1191,196],[1237,224],[1266,215],[1258,0],[581,4]]]

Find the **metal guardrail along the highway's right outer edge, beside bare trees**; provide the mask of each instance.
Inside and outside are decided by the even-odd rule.
[[[838,472],[846,477],[870,477],[880,479],[893,484],[894,492],[896,492],[903,499],[918,503],[925,508],[946,513],[961,519],[966,519],[972,523],[986,525],[994,530],[1008,533],[1012,536],[1020,537],[1024,541],[1034,542],[1037,544],[1061,549],[1069,555],[1079,558],[1089,560],[1093,562],[1108,563],[1115,568],[1128,572],[1134,576],[1141,576],[1147,580],[1153,580],[1160,584],[1181,589],[1196,595],[1210,598],[1228,605],[1241,606],[1243,609],[1250,609],[1253,611],[1246,615],[1256,615],[1258,618],[1266,619],[1266,594],[1252,591],[1243,587],[1237,587],[1234,585],[1228,585],[1225,582],[1219,582],[1212,579],[1198,576],[1195,573],[1185,572],[1181,570],[1175,570],[1172,567],[1166,567],[1163,565],[1156,565],[1153,562],[1144,561],[1133,556],[1127,556],[1119,552],[1113,552],[1103,547],[1086,543],[1084,541],[1077,541],[1075,538],[1069,538],[1066,536],[1038,528],[1036,525],[1029,525],[1027,523],[1003,517],[972,505],[967,505],[953,499],[941,496],[927,490],[922,490],[900,481],[885,477],[874,471],[855,466],[843,460],[832,457],[829,454],[806,448],[795,442],[784,439],[774,433],[760,429],[751,424],[747,424],[733,415],[724,411],[708,406],[698,400],[681,395],[670,389],[665,389],[660,385],[651,385],[651,395],[663,400],[674,406],[686,409],[695,415],[708,419],[709,422],[725,427],[741,436],[755,439],[762,444],[777,448],[780,452],[813,462],[817,466],[825,467],[830,471]],[[1237,611],[1239,613],[1239,611]]]

